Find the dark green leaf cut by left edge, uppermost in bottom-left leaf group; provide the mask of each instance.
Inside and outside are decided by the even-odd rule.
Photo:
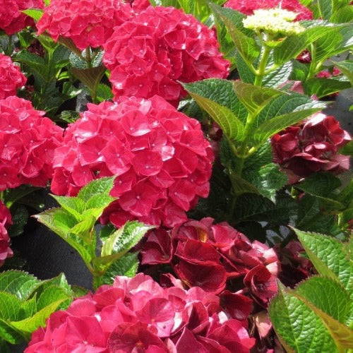
[[[9,270],[0,273],[0,291],[16,295],[21,301],[28,299],[40,280],[28,273]]]

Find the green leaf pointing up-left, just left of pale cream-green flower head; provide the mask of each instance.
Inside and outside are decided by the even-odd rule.
[[[244,30],[244,26],[241,22],[244,16],[237,13],[237,11],[231,12],[229,9],[225,10],[225,8],[221,8],[220,6],[216,6],[214,4],[210,4],[210,8],[213,10],[213,13],[222,19],[230,37],[232,38],[232,41],[237,47],[239,54],[246,61],[246,63],[251,64],[258,58],[261,51],[253,37],[244,33],[246,31]]]

